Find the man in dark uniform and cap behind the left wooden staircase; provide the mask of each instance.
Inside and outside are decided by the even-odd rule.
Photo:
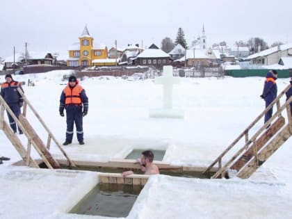
[[[6,101],[10,109],[19,117],[20,115],[20,108],[23,106],[24,99],[22,95],[19,94],[17,88],[22,90],[22,86],[18,81],[13,81],[13,77],[11,74],[6,74],[5,76],[6,82],[1,84],[1,96]],[[24,92],[22,90],[22,92]],[[13,129],[14,133],[17,131],[17,125],[13,117],[7,112],[8,120],[10,123],[11,129]],[[22,130],[18,127],[19,134],[22,134]]]

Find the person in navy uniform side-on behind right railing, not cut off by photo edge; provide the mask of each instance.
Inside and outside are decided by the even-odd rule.
[[[263,98],[266,102],[266,108],[270,105],[271,102],[274,101],[277,97],[277,76],[278,73],[276,70],[270,70],[266,75],[265,85],[263,86],[263,94],[261,98]],[[270,120],[270,117],[273,115],[273,106],[266,112],[265,114],[265,123]]]

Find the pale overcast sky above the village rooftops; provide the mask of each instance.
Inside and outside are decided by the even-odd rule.
[[[25,51],[67,51],[87,24],[95,43],[118,47],[175,41],[184,30],[188,45],[202,34],[207,44],[263,38],[292,42],[291,0],[1,0],[0,57]]]

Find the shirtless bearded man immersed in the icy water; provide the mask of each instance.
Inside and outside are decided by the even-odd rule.
[[[144,151],[141,154],[140,159],[137,159],[136,163],[140,163],[140,169],[145,175],[159,174],[159,168],[153,163],[154,154],[152,151]],[[133,171],[122,172],[123,177],[133,174]]]

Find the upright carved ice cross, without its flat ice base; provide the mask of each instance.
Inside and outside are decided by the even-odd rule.
[[[179,83],[179,78],[172,75],[172,66],[163,66],[163,76],[156,78],[155,83],[163,84],[163,108],[172,108],[172,85]]]

